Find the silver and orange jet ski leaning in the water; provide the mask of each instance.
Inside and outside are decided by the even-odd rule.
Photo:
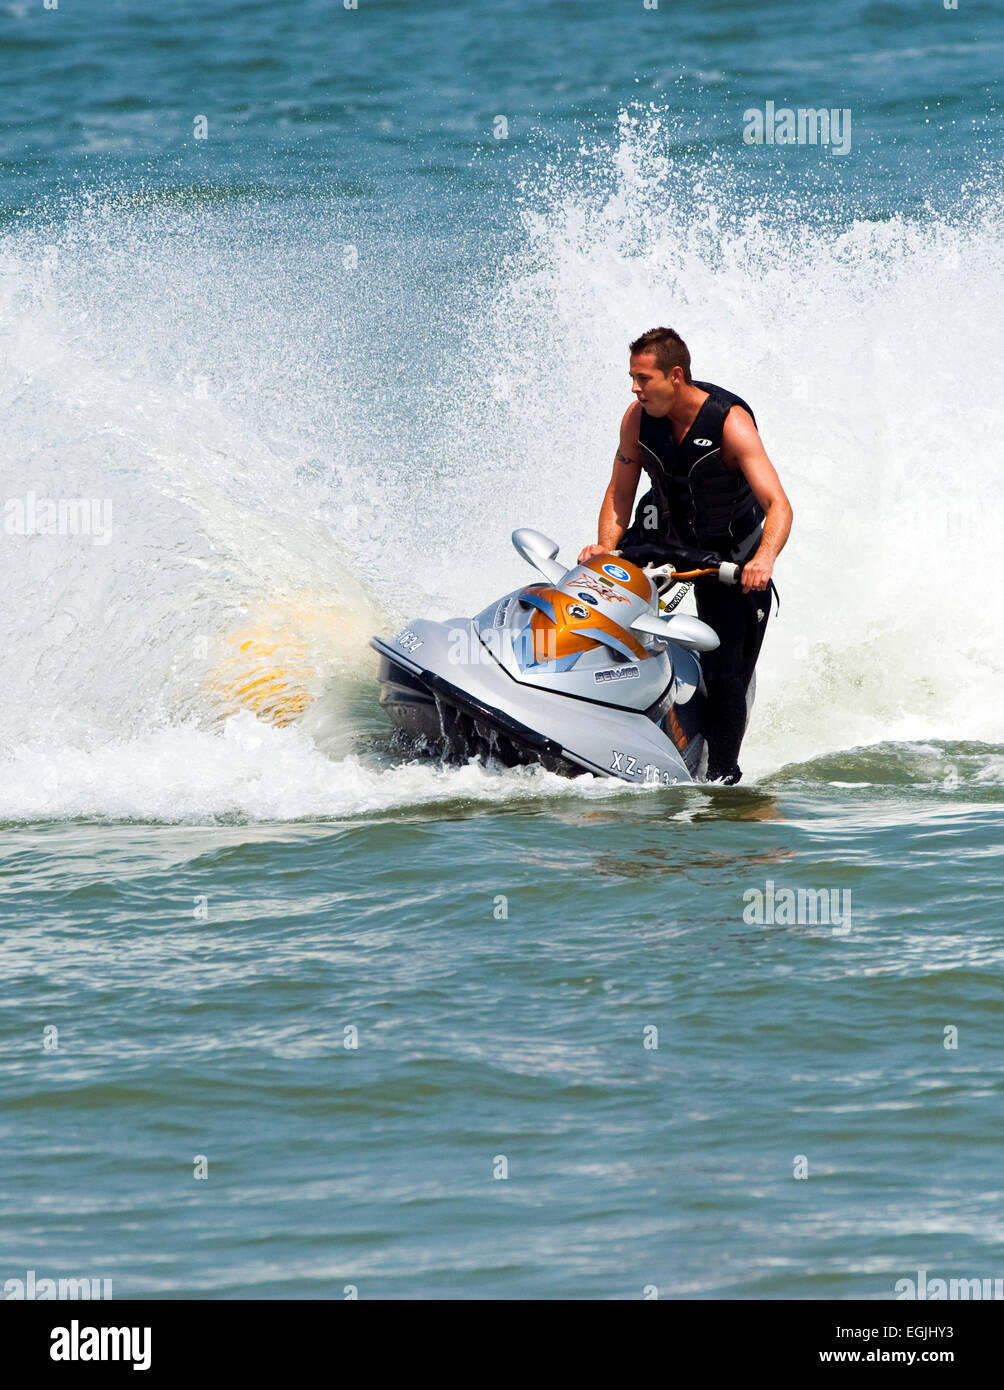
[[[706,769],[699,652],[719,645],[699,619],[672,612],[693,581],[737,584],[722,563],[679,573],[598,555],[566,567],[558,545],[520,528],[516,550],[537,582],[476,617],[414,619],[374,637],[380,703],[405,739],[452,762],[540,763],[634,784],[699,781]],[[747,695],[747,717],[752,682]]]

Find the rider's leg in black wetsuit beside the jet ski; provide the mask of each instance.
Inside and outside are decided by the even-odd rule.
[[[701,653],[708,687],[708,781],[737,783],[738,751],[745,731],[745,692],[756,666],[770,616],[770,591],[743,594],[713,580],[694,585],[698,616],[713,627],[720,646]]]

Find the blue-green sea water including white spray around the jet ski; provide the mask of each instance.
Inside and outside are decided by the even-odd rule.
[[[0,46],[0,1284],[1000,1277],[1000,14],[61,0]],[[744,143],[766,101],[848,152]],[[405,760],[367,635],[594,538],[656,322],[795,509],[744,783]]]

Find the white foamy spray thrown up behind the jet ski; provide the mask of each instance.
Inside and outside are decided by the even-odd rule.
[[[266,730],[252,756],[214,662],[307,612],[298,692],[360,687],[370,631],[520,581],[516,525],[572,560],[630,402],[626,343],[659,322],[751,400],[795,510],[747,777],[868,744],[1004,744],[1004,619],[980,577],[1004,402],[978,389],[1004,350],[1000,199],[837,222],[751,203],[713,158],[674,163],[667,133],[626,114],[612,146],[542,168],[517,249],[477,285],[438,284],[453,338],[405,343],[394,370],[375,325],[417,324],[430,292],[410,243],[374,300],[293,210],[263,246],[254,213],[92,196],[0,239],[0,500],[110,499],[115,517],[107,545],[0,535],[0,813],[552,795],[546,777],[388,766],[371,738],[346,753],[348,716],[341,741]]]

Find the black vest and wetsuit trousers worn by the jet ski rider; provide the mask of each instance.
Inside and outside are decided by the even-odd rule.
[[[638,502],[620,552],[638,563],[673,562],[677,569],[704,569],[722,560],[745,562],[763,534],[763,509],[743,473],[722,461],[722,431],[740,396],[708,381],[694,424],[680,443],[667,418],[642,407],[638,432],[641,466],[652,488]],[[738,751],[745,731],[745,695],[770,614],[770,588],[743,594],[713,580],[694,587],[697,612],[716,632],[720,646],[701,657],[708,706],[708,780],[736,783],[743,776]]]

